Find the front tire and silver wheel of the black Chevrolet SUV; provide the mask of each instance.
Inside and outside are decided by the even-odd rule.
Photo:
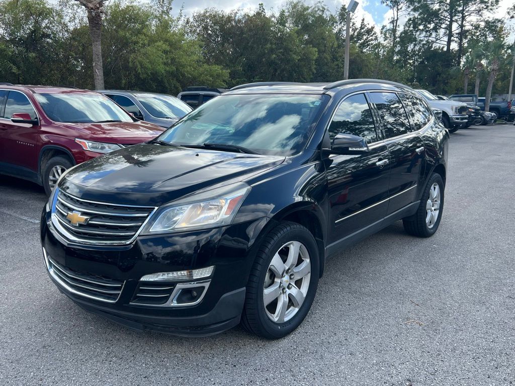
[[[266,339],[295,330],[310,310],[318,286],[320,257],[304,226],[283,222],[262,241],[250,272],[243,327]]]

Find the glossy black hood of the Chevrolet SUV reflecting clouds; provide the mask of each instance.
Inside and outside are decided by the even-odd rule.
[[[74,167],[59,187],[84,199],[113,202],[114,197],[126,204],[159,205],[198,190],[243,181],[284,160],[282,156],[141,144]]]

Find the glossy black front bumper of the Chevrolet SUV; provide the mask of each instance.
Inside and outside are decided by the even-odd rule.
[[[60,237],[53,229],[50,213],[44,210],[41,243],[50,278],[61,292],[83,309],[138,330],[207,336],[239,323],[252,264],[248,257],[251,248],[248,229],[260,228],[265,223],[261,219],[208,231],[140,236],[128,245],[98,247],[73,244]],[[61,269],[70,270],[72,275],[87,272],[88,276],[81,277],[107,277],[105,280],[113,280],[112,283],[123,283],[120,293],[107,302],[85,296],[87,291],[81,288],[78,293],[72,291],[52,274],[48,259]],[[215,266],[215,269],[198,304],[173,307],[134,304],[141,284],[147,283],[140,282],[142,276],[208,266]],[[164,284],[177,287],[178,283],[185,282],[167,280]]]

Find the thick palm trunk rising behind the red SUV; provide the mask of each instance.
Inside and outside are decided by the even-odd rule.
[[[104,13],[104,0],[76,0],[88,12],[91,43],[93,46],[93,79],[95,89],[104,89],[104,67],[102,66],[102,13]]]

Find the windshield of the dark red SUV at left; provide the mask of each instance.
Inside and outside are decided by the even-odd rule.
[[[35,94],[41,108],[55,122],[132,122],[111,99],[100,94]]]

